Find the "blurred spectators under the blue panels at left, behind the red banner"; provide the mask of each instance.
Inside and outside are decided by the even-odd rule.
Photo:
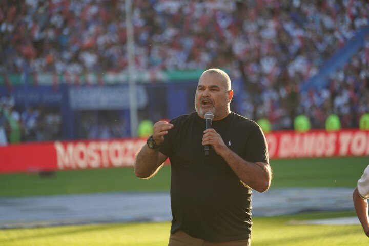
[[[129,137],[130,131],[118,111],[79,112],[78,139]],[[45,105],[17,110],[12,96],[0,97],[0,146],[31,141],[63,139],[63,121],[58,108]]]

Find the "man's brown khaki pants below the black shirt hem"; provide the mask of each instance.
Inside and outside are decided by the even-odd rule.
[[[194,238],[186,232],[177,231],[169,237],[168,246],[251,246],[251,239],[230,242],[207,242],[200,238]]]

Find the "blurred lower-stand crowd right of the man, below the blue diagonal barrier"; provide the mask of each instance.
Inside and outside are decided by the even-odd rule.
[[[369,112],[369,36],[343,68],[330,74],[329,81],[326,88],[305,92],[299,91],[298,83],[254,95],[247,90],[241,112],[253,119],[267,118],[274,130],[292,129],[298,115],[308,116],[313,129],[322,129],[332,114],[339,117],[342,128],[357,128],[361,115]]]

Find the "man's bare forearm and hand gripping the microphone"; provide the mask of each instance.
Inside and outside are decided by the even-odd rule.
[[[207,129],[202,138],[202,145],[211,145],[215,152],[227,161],[239,179],[258,192],[269,189],[272,169],[268,163],[248,162],[230,150],[221,136],[214,129]]]

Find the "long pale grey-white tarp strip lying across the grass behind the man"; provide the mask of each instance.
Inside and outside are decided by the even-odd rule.
[[[291,188],[253,192],[253,216],[354,210],[353,189]],[[0,198],[0,229],[129,221],[170,221],[169,192]]]

